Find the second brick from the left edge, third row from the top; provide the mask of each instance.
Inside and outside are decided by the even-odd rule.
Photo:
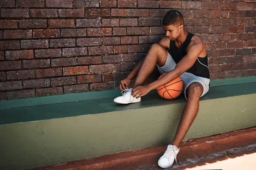
[[[47,28],[47,20],[19,20],[19,28]]]

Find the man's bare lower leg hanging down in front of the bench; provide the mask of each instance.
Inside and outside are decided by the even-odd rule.
[[[175,134],[175,138],[172,141],[172,145],[175,145],[177,148],[180,147],[181,141],[184,139],[189,127],[194,121],[198,109],[199,109],[199,99],[203,93],[204,88],[199,82],[192,82],[187,88],[187,102],[183,109],[182,116],[180,118],[180,123]]]

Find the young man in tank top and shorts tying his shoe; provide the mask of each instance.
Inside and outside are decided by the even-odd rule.
[[[209,90],[206,47],[198,36],[184,30],[183,23],[183,16],[179,11],[167,12],[163,18],[166,37],[158,44],[153,44],[145,58],[138,63],[127,78],[120,82],[119,90],[123,95],[114,99],[114,102],[121,104],[140,102],[140,97],[149,91],[181,77],[187,102],[175,138],[158,161],[158,165],[162,168],[171,167],[176,160],[180,143],[198,113],[199,99]],[[170,54],[166,48],[170,49]],[[160,73],[166,73],[166,75],[143,86],[156,65]],[[130,79],[134,77],[136,77],[134,86],[128,89]]]

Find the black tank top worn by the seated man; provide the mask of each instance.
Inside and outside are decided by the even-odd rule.
[[[175,41],[170,40],[170,51],[172,58],[176,62],[176,64],[187,54],[186,48],[189,45],[189,42],[194,34],[188,34],[186,40],[177,48],[175,45]],[[194,74],[195,76],[210,78],[209,69],[208,69],[208,62],[207,62],[207,55],[206,57],[198,57],[195,61],[194,65],[189,68],[186,72]]]

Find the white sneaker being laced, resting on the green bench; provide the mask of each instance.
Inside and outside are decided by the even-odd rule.
[[[136,96],[135,97],[131,96],[131,93],[132,93],[131,90],[132,90],[132,88],[123,90],[121,92],[122,96],[116,97],[116,99],[114,99],[114,102],[119,103],[119,104],[140,102],[140,98],[136,99],[135,98]]]

